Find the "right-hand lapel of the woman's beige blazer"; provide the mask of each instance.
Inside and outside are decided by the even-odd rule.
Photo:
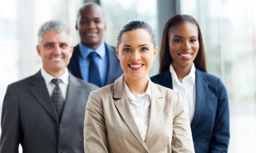
[[[154,133],[159,117],[161,115],[161,110],[163,106],[162,93],[159,91],[157,86],[151,82],[151,109],[150,109],[150,123],[148,124],[148,129],[145,138],[145,144],[150,140],[152,134]]]

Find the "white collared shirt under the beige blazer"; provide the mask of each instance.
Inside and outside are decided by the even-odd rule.
[[[125,93],[129,101],[130,109],[133,113],[137,123],[140,135],[145,140],[148,123],[150,122],[150,102],[151,102],[151,88],[150,79],[148,78],[148,85],[146,92],[137,94],[137,98],[130,92],[128,86],[124,81]]]

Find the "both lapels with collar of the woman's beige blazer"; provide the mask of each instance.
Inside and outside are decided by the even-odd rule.
[[[151,95],[152,95],[151,111],[150,111],[151,115],[150,115],[150,123],[148,125],[146,138],[145,138],[145,141],[143,141],[140,135],[137,123],[134,120],[133,114],[130,110],[129,101],[125,94],[123,75],[124,74],[122,74],[121,77],[118,78],[114,84],[114,98],[119,99],[115,101],[115,106],[118,109],[120,115],[122,116],[124,122],[133,133],[133,135],[148,152],[146,143],[148,142],[148,140],[150,140],[152,134],[154,133],[155,127],[159,120],[158,118],[160,117],[160,114],[161,114],[159,113],[159,111],[162,110],[162,105],[163,105],[163,102],[161,101],[163,95],[158,89],[158,87],[153,82],[150,82]]]

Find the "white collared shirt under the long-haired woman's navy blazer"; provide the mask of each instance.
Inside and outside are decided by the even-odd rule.
[[[182,79],[182,83],[178,80],[177,74],[170,64],[170,73],[172,74],[173,89],[178,91],[183,99],[187,108],[190,124],[194,118],[196,110],[196,68],[193,63],[189,74]]]

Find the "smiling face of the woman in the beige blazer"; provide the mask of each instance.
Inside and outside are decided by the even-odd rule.
[[[125,80],[147,79],[156,54],[157,47],[154,48],[150,33],[143,29],[123,33],[118,48],[116,46]]]

